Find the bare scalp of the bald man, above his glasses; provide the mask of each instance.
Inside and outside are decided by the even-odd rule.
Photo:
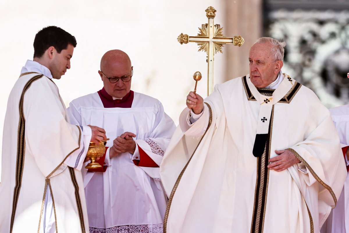
[[[124,51],[114,49],[104,53],[101,59],[101,71],[113,69],[120,65],[131,67],[131,60]]]

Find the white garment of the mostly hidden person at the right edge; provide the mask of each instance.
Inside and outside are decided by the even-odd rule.
[[[336,126],[340,141],[349,145],[349,104],[329,110]],[[348,160],[345,159],[346,165]],[[321,233],[348,233],[349,232],[349,175],[338,199],[337,206],[332,210]]]

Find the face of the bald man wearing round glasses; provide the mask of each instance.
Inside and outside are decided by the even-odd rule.
[[[123,77],[126,75],[132,75],[132,66],[129,61],[117,61],[114,63],[110,63],[103,67],[102,72],[106,77]],[[102,78],[103,85],[105,91],[116,98],[124,97],[131,90],[131,81],[123,82],[119,79],[116,83],[111,83],[109,79],[107,79],[101,71],[98,71],[99,75]]]

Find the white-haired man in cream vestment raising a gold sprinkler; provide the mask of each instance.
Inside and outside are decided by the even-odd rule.
[[[329,111],[260,38],[250,74],[190,92],[160,166],[164,232],[319,232],[346,170]]]

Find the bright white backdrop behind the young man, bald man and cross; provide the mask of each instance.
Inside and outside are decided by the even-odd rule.
[[[205,9],[211,5],[217,10],[215,23],[224,27],[224,0],[0,0],[0,131],[10,90],[26,60],[32,59],[35,34],[51,25],[77,40],[70,70],[54,80],[67,106],[102,89],[100,59],[106,51],[120,49],[134,66],[131,89],[160,100],[177,124],[186,95],[194,89],[195,71],[203,76],[198,94],[207,93],[206,53],[197,52],[195,43],[180,45],[177,37],[182,32],[195,36],[207,23]],[[223,59],[224,54],[215,56],[214,83],[223,80]]]

